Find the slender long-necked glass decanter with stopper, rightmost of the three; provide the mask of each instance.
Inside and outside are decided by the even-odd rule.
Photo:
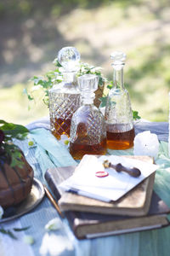
[[[123,85],[123,67],[126,55],[116,51],[111,54],[113,61],[113,88],[107,96],[105,124],[107,148],[127,149],[133,147],[133,113],[128,91]]]

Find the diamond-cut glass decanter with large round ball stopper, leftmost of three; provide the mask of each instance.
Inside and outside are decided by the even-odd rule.
[[[63,134],[70,137],[71,117],[80,106],[76,79],[80,54],[74,47],[64,47],[59,50],[58,61],[62,66],[63,81],[54,84],[48,96],[51,131],[60,139]]]

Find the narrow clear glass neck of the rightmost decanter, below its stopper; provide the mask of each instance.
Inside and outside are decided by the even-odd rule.
[[[113,67],[113,84],[116,89],[124,89],[123,81],[123,66],[124,65],[112,65]]]

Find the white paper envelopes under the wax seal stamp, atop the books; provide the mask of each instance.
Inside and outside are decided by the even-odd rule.
[[[132,177],[125,172],[116,172],[113,168],[105,169],[104,160],[109,160],[114,165],[121,163],[122,166],[137,167],[141,175]],[[94,155],[85,155],[74,174],[61,183],[59,187],[64,190],[77,189],[77,194],[103,201],[116,201],[142,182],[144,178],[149,177],[151,173],[156,171],[157,167],[144,161],[115,155],[103,155],[99,158]],[[109,176],[96,177],[95,173],[99,171],[106,171]]]

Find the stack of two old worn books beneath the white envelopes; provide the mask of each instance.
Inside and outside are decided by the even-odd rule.
[[[126,157],[153,162],[147,156]],[[153,191],[155,172],[120,200],[105,202],[59,189],[59,184],[71,177],[75,168],[48,169],[45,178],[78,239],[152,230],[169,224],[167,214],[170,209]]]

